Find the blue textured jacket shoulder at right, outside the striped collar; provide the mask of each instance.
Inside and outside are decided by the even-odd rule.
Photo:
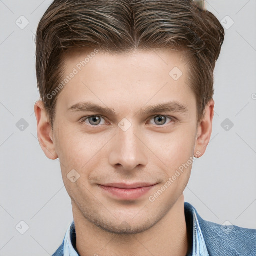
[[[191,204],[189,207],[194,208]],[[256,255],[256,229],[220,225],[200,217],[194,208],[209,255]]]

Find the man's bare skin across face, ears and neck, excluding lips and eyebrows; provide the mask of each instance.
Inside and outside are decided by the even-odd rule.
[[[66,55],[64,76],[92,51]],[[183,73],[178,80],[169,75],[173,67]],[[202,156],[210,140],[214,101],[197,122],[186,68],[177,51],[99,52],[59,92],[53,130],[42,101],[35,103],[38,140],[48,158],[60,160],[81,256],[186,255],[191,242],[183,191],[192,164],[149,200],[189,157]],[[109,107],[115,115],[68,110],[85,101]],[[139,113],[169,101],[186,106],[187,112]],[[90,115],[99,121],[80,122]],[[123,118],[131,124],[126,131],[118,126]],[[80,175],[76,182],[67,177],[72,169]],[[110,182],[156,185],[137,199],[125,200],[99,186]]]

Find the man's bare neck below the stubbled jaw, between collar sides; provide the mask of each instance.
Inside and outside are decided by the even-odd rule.
[[[81,256],[184,256],[189,245],[184,196],[154,226],[136,234],[114,234],[89,222],[72,201],[76,248]]]

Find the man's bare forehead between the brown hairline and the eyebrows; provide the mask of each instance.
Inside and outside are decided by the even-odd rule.
[[[65,54],[63,67],[62,79],[68,82],[57,102],[66,108],[86,100],[141,107],[149,101],[185,101],[192,94],[186,58],[176,50],[107,53],[91,48]]]

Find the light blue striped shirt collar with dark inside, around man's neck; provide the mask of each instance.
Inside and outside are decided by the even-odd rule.
[[[197,213],[195,208],[185,202],[185,218],[187,231],[190,232],[190,239],[192,239],[192,251],[189,251],[187,256],[209,256],[208,250],[204,241],[201,227],[198,222]],[[74,221],[68,226],[63,244],[63,256],[80,256],[77,252],[76,246],[76,234]],[[74,245],[74,246],[73,246]]]

